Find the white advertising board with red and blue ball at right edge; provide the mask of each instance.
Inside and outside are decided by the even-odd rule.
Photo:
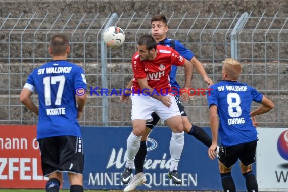
[[[257,128],[260,191],[288,191],[288,128]]]

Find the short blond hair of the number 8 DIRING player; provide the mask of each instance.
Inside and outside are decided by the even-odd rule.
[[[238,60],[227,58],[222,63],[228,77],[237,79],[241,75],[242,65]]]

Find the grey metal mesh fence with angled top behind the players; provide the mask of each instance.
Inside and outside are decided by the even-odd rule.
[[[15,17],[0,17],[0,124],[36,124],[37,117],[19,102],[19,94],[32,70],[51,59],[47,53],[50,35],[67,33],[70,37],[69,60],[83,67],[88,82],[88,102],[81,125],[131,125],[131,103],[123,104],[115,94],[111,97],[97,96],[94,88],[109,91],[124,89],[132,71],[130,60],[136,51],[136,40],[150,33],[152,14],[127,17],[111,13],[107,16],[82,16],[47,13],[29,16],[22,13]],[[214,83],[221,79],[221,61],[234,57],[243,62],[243,75],[239,79],[267,94],[275,103],[275,109],[261,115],[261,126],[288,126],[287,110],[287,48],[288,17],[252,16],[252,13],[236,13],[230,16],[166,15],[168,37],[180,40],[203,63]],[[107,49],[101,39],[105,28],[117,25],[126,35],[118,49]],[[183,85],[183,71],[178,69],[177,80]],[[205,88],[201,77],[195,72],[194,88]],[[101,92],[98,91],[101,95]],[[37,103],[37,95],[34,95]],[[191,97],[184,103],[189,119],[195,124],[209,125],[206,97]],[[252,109],[258,104],[253,104]]]

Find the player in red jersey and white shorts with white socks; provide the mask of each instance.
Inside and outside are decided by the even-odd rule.
[[[126,168],[133,168],[134,158],[140,147],[140,140],[145,132],[146,121],[151,121],[151,114],[156,112],[172,130],[170,141],[171,165],[170,175],[173,181],[181,184],[177,167],[184,145],[184,132],[181,114],[174,95],[171,93],[169,73],[171,65],[185,67],[185,85],[189,89],[191,85],[193,65],[182,58],[178,52],[170,47],[157,45],[151,35],[142,36],[137,42],[138,51],[132,57],[134,73],[132,99],[132,125],[133,130],[127,139]],[[183,97],[187,101],[187,94]],[[142,173],[141,183],[146,182]],[[126,187],[127,188],[127,187]],[[124,191],[130,191],[129,188]]]

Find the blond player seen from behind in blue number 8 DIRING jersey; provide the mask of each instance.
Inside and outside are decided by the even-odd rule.
[[[274,104],[255,88],[237,82],[241,75],[241,63],[232,58],[226,59],[223,63],[223,81],[212,85],[211,94],[207,95],[212,132],[212,145],[208,155],[211,159],[216,158],[214,149],[218,139],[218,114],[221,138],[218,162],[224,191],[236,191],[231,169],[239,159],[247,190],[258,192],[257,180],[252,171],[258,141],[255,116],[270,111]],[[250,112],[253,101],[261,105]]]

